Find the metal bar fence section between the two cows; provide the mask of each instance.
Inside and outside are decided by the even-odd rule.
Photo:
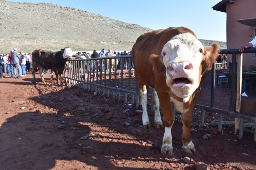
[[[136,93],[131,55],[68,61],[64,78],[88,91],[111,94],[112,99],[118,101],[123,97],[125,103],[133,105],[136,99],[138,107],[139,94]]]

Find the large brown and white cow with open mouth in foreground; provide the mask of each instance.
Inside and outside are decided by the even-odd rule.
[[[207,75],[207,65],[215,61],[218,51],[218,44],[204,47],[191,30],[183,27],[142,34],[132,47],[135,77],[143,107],[144,128],[150,128],[146,85],[154,88],[156,128],[163,128],[159,102],[163,110],[163,155],[171,155],[173,151],[171,128],[175,113],[172,105],[182,115],[182,149],[186,153],[195,152],[190,134],[191,114],[202,81]]]

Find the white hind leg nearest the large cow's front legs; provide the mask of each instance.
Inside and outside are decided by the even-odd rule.
[[[154,110],[155,110],[155,117],[154,117],[155,128],[163,129],[164,125],[163,125],[161,115],[160,115],[160,110],[159,110],[159,99],[154,88],[152,93],[152,100],[153,100],[152,103],[154,105]]]

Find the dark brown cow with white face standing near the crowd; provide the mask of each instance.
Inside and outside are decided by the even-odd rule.
[[[57,78],[57,84],[60,85],[63,83],[63,71],[65,69],[65,65],[67,60],[72,59],[72,50],[69,47],[65,47],[60,51],[45,51],[45,50],[35,50],[32,53],[32,74],[33,79],[32,82],[36,83],[35,73],[37,67],[39,68],[39,74],[41,76],[42,82],[45,84],[43,71],[45,70],[53,70]],[[53,77],[53,73],[51,79]]]

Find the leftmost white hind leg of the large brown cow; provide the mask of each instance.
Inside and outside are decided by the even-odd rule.
[[[137,83],[138,83],[138,81],[137,81]],[[150,129],[151,125],[150,125],[148,113],[147,113],[147,88],[146,88],[146,85],[139,87],[139,93],[140,93],[140,103],[141,103],[142,110],[143,110],[143,113],[142,113],[143,127],[144,127],[144,129]]]

